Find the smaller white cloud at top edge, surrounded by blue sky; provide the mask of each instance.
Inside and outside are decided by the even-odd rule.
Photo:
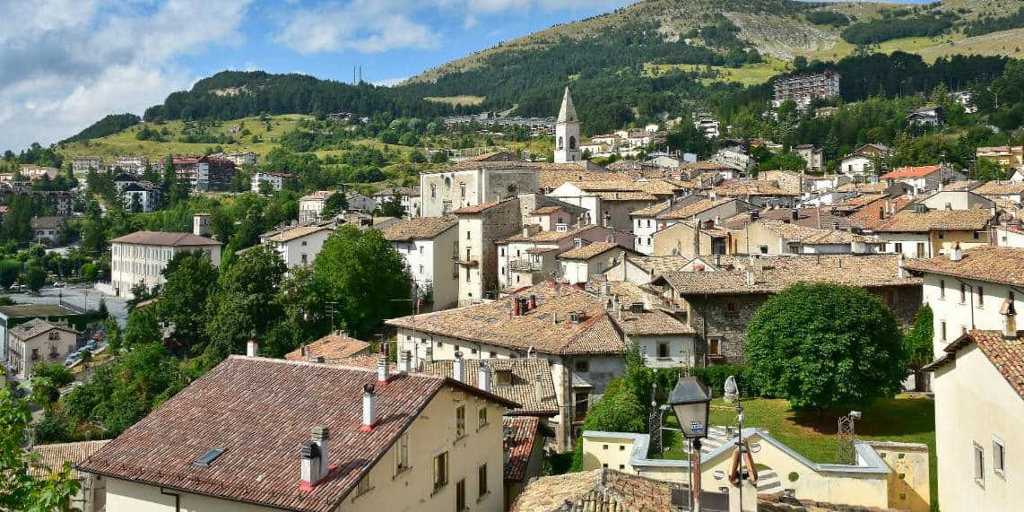
[[[287,16],[275,40],[299,53],[436,47],[439,36],[403,13],[413,10],[401,0],[354,0],[343,6],[299,10]]]

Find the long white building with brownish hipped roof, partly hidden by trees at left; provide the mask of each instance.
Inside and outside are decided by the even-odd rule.
[[[118,297],[132,298],[132,287],[166,283],[164,268],[175,254],[201,251],[220,265],[220,242],[188,232],[135,231],[111,241],[111,286]]]

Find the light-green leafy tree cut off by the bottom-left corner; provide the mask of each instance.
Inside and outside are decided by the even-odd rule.
[[[66,510],[68,501],[79,489],[71,464],[53,468],[48,475],[35,475],[32,469],[38,455],[23,450],[32,412],[25,399],[14,396],[7,386],[0,387],[0,509],[27,512]]]

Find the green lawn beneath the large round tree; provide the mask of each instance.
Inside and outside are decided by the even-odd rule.
[[[819,463],[836,463],[839,440],[837,420],[847,411],[833,413],[798,413],[783,399],[757,398],[743,400],[743,427],[767,430],[772,437],[785,443],[800,455]],[[863,417],[856,423],[857,437],[864,440],[922,442],[928,444],[932,479],[932,504],[938,503],[938,469],[935,459],[935,408],[931,398],[898,395],[876,400],[861,410]],[[676,426],[674,417],[667,423]],[[736,424],[734,406],[721,398],[712,401],[712,425]],[[682,459],[678,436],[665,454],[667,459]]]

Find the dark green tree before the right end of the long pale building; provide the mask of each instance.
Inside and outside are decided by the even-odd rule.
[[[187,354],[206,324],[206,302],[217,288],[217,269],[203,253],[178,253],[164,269],[166,283],[157,303],[160,319],[174,325],[173,337]]]

